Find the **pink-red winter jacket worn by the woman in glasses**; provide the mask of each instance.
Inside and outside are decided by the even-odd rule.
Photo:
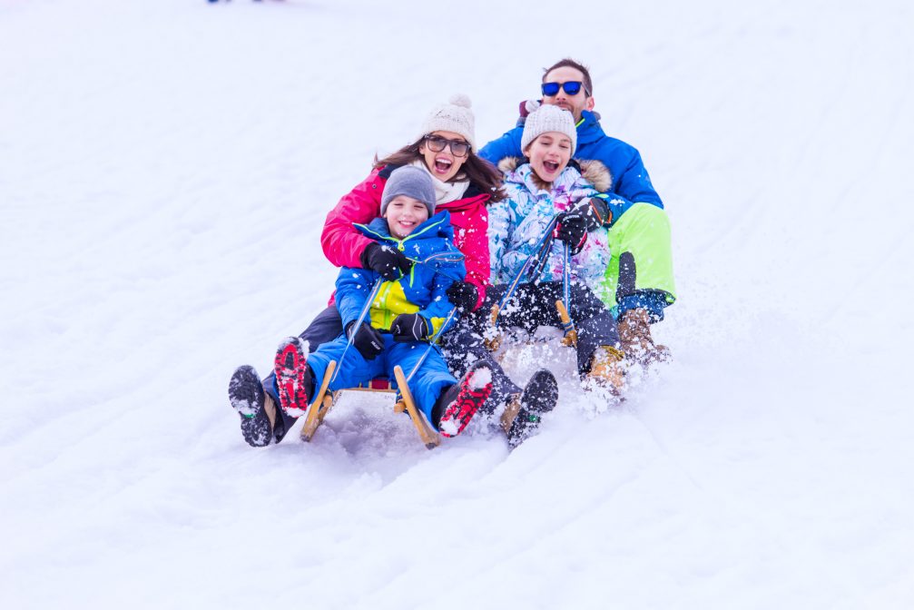
[[[359,256],[372,241],[353,225],[368,224],[381,215],[381,193],[390,172],[396,168],[384,166],[372,170],[365,181],[345,194],[327,213],[321,247],[327,260],[337,267],[362,266]],[[462,199],[437,205],[435,212],[446,209],[451,213],[454,245],[463,253],[466,281],[476,286],[479,292],[476,301],[476,307],[479,307],[485,298],[485,286],[489,283],[489,238],[486,234],[489,219],[485,203],[490,196],[473,184],[464,195]]]

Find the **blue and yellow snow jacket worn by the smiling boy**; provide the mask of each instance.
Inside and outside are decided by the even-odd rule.
[[[453,305],[445,291],[455,281],[466,277],[463,254],[453,245],[451,215],[441,211],[403,239],[390,235],[386,219],[374,219],[356,229],[381,245],[397,248],[413,262],[409,274],[396,281],[384,280],[370,269],[343,267],[336,278],[336,307],[343,327],[358,319],[375,283],[381,282],[371,304],[371,326],[388,330],[400,314],[416,314],[428,320],[430,338],[441,332],[444,319]]]

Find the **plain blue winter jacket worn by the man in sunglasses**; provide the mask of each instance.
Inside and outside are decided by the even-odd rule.
[[[524,152],[520,148],[523,134],[524,126],[519,125],[485,144],[479,155],[495,165],[506,156],[523,156]],[[634,146],[603,133],[599,115],[595,112],[581,112],[578,148],[573,156],[578,159],[597,159],[609,168],[612,175],[611,197],[607,198],[612,212],[610,224],[614,224],[635,203],[650,203],[663,209],[664,202],[651,184],[641,154]]]

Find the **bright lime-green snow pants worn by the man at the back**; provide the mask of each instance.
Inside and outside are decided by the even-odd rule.
[[[673,251],[670,220],[663,209],[636,203],[610,228],[610,264],[597,293],[618,318],[642,307],[653,321],[673,305]]]

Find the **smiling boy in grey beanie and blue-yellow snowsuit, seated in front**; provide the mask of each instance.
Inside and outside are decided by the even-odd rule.
[[[399,365],[416,407],[442,435],[456,436],[470,422],[492,392],[492,370],[487,361],[478,360],[458,382],[440,348],[430,345],[457,316],[447,289],[466,276],[462,254],[453,245],[450,215],[434,214],[434,208],[435,190],[427,170],[402,166],[391,173],[381,198],[382,218],[356,228],[382,247],[406,255],[413,262],[409,274],[390,281],[370,269],[343,267],[336,279],[343,335],[313,354],[300,337],[285,339],[274,361],[275,388],[262,388],[250,367],[236,371],[229,401],[241,415],[248,444],[269,444],[276,417],[305,414],[332,360],[337,368],[331,391],[381,376],[393,379]],[[264,391],[270,396],[264,397]],[[282,413],[276,412],[277,402]]]

